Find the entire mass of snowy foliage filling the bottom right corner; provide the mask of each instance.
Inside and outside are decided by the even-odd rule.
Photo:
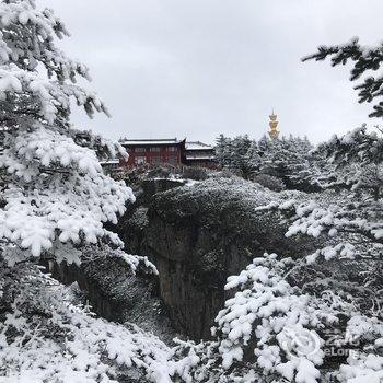
[[[292,285],[300,263],[275,254],[237,276],[216,318],[214,340],[178,341],[170,369],[186,382],[379,382],[383,322],[334,291]]]

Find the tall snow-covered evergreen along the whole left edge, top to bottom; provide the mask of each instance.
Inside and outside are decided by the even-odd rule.
[[[116,222],[131,189],[103,174],[97,155],[123,152],[69,123],[74,101],[107,113],[76,84],[88,68],[55,45],[68,35],[34,0],[0,2],[0,376],[3,382],[116,382],[129,371],[171,382],[167,347],[136,326],[95,318],[73,293],[44,275],[42,257],[80,262],[89,253],[126,255],[103,227]],[[93,255],[92,255],[93,256]],[[141,371],[141,372],[140,372]]]

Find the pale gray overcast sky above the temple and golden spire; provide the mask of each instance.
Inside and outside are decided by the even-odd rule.
[[[283,135],[322,141],[367,121],[346,68],[302,63],[321,44],[383,38],[381,0],[40,0],[72,36],[112,119],[73,121],[105,137],[213,142],[259,138],[275,107]]]

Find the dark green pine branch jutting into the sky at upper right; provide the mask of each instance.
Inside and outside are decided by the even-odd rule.
[[[340,45],[325,46],[322,45],[313,55],[306,56],[302,61],[315,59],[325,60],[330,57],[332,66],[345,65],[352,61],[350,80],[358,80],[361,76],[369,71],[378,71],[383,62],[383,43],[375,47],[362,46],[359,38],[353,37],[350,42]],[[373,112],[370,117],[383,116],[383,102],[379,101],[382,96],[383,77],[367,77],[360,84],[355,86],[358,91],[359,103],[373,102]]]

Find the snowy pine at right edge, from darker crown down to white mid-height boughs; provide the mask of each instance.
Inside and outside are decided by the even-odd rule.
[[[323,255],[381,257],[383,244],[382,148],[383,139],[367,132],[365,126],[322,146],[333,165],[333,184],[349,185],[351,189],[339,198],[307,202],[291,201],[279,208],[290,217],[287,235],[303,233],[312,236],[329,235],[332,245],[318,249],[311,260]],[[348,204],[345,204],[345,197]],[[339,242],[334,239],[339,237]],[[358,244],[358,246],[356,246]],[[360,246],[362,245],[362,246]]]

